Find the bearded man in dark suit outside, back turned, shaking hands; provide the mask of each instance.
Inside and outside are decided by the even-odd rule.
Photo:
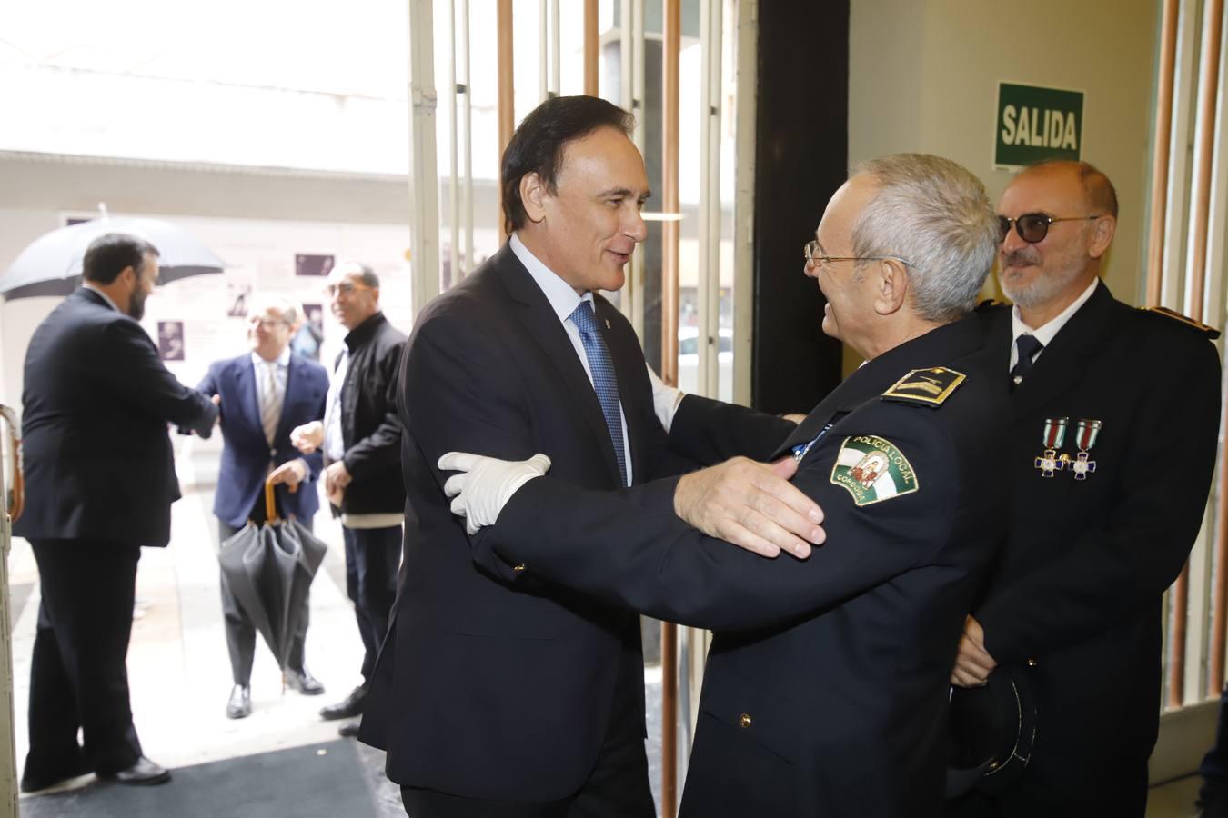
[[[136,562],[141,546],[171,538],[179,483],[167,423],[209,437],[217,418],[208,397],[167,372],[138,323],[157,250],[103,235],[82,276],[26,352],[27,498],[14,533],[33,547],[42,601],[25,791],[90,770],[120,784],[169,780],[141,753],[128,699]]]

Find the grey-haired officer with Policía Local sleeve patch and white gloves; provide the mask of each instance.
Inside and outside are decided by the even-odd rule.
[[[551,467],[515,491],[512,475],[481,473],[511,464],[441,460],[476,466],[446,489],[470,527],[497,520],[473,541],[488,570],[716,632],[683,816],[942,809],[949,662],[1005,526],[989,477],[1006,388],[969,318],[996,234],[984,186],[955,163],[866,163],[828,205],[806,272],[826,298],[823,330],[867,362],[792,432],[705,399],[679,405],[670,444],[701,461],[799,461],[793,483],[823,506],[828,536],[804,562],[690,529],[685,498],[706,471],[615,494]]]

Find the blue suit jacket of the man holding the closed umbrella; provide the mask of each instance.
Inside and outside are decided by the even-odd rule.
[[[313,451],[301,455],[290,443],[290,430],[296,426],[319,421],[324,417],[324,397],[328,395],[328,372],[314,361],[291,354],[286,365],[286,394],[281,403],[281,418],[269,445],[260,421],[260,397],[257,386],[252,354],[215,361],[209,365],[204,380],[196,385],[203,395],[220,395],[222,410],[222,462],[217,475],[217,493],[214,495],[214,514],[226,525],[242,529],[258,498],[264,495],[264,478],[269,464],[280,466],[290,460],[307,464],[307,478],[298,491],[281,487],[278,505],[282,516],[296,516],[311,521],[319,508],[319,477],[323,454]],[[264,500],[260,499],[260,503]]]

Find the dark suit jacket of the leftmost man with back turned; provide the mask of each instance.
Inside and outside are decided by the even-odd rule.
[[[158,358],[141,325],[81,287],[26,352],[22,438],[28,540],[166,546],[179,481],[176,423],[208,438],[217,407]]]

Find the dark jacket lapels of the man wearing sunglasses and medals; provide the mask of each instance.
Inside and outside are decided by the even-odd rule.
[[[1036,358],[1023,383],[1016,388],[1012,400],[1016,416],[1041,408],[1041,403],[1078,383],[1084,374],[1084,361],[1104,345],[1111,332],[1114,303],[1109,288],[1100,282],[1087,303],[1070,318]],[[1007,314],[1005,341],[1007,354],[1011,350],[1009,324]]]

